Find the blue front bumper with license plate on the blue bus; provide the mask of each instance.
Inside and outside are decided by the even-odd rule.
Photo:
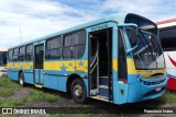
[[[129,84],[128,103],[136,103],[146,100],[153,100],[162,96],[166,91],[167,79],[161,81],[161,83],[146,83],[139,81],[136,83]]]

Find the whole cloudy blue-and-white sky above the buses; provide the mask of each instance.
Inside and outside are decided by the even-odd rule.
[[[176,19],[176,0],[0,0],[0,48],[113,13]]]

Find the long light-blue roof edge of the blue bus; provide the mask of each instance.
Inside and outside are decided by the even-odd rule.
[[[124,23],[124,20],[125,20],[128,14],[132,14],[132,13],[111,14],[111,15],[108,15],[108,16],[105,16],[105,17],[101,17],[101,19],[98,19],[98,20],[95,20],[95,21],[90,21],[90,22],[85,23],[85,24],[80,24],[80,25],[77,25],[77,26],[74,26],[74,27],[70,27],[70,28],[67,28],[67,30],[63,30],[63,31],[43,36],[43,37],[38,37],[36,39],[32,39],[30,42],[26,42],[26,43],[23,43],[23,44],[20,44],[20,45],[15,45],[11,48],[15,48],[15,47],[23,46],[23,45],[26,45],[26,44],[32,44],[32,43],[35,43],[35,42],[44,40],[44,39],[47,39],[47,38],[51,38],[51,37],[54,37],[54,36],[58,36],[58,35],[65,34],[65,33],[74,32],[74,31],[78,31],[78,30],[81,30],[81,28],[86,28],[86,27],[94,26],[96,24],[100,24],[100,23],[105,23],[105,22],[109,22],[109,21],[117,22],[117,23],[121,24],[121,23]],[[136,15],[136,14],[134,14],[134,15]],[[138,16],[140,16],[140,15],[138,15]]]

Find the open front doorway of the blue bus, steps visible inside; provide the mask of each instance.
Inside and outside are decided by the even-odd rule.
[[[89,34],[89,89],[90,96],[112,100],[112,30]]]

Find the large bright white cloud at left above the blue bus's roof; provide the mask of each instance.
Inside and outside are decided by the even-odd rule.
[[[26,42],[97,16],[98,13],[80,12],[54,0],[6,0],[0,4],[0,45],[19,44],[20,28]]]

